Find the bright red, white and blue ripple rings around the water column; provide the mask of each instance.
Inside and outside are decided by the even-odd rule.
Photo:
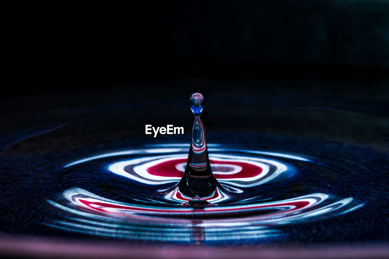
[[[171,188],[179,182],[185,170],[185,144],[153,145],[146,149],[107,152],[66,164],[65,169],[97,163],[106,172],[128,179],[129,189],[139,185],[143,188],[142,194],[127,194],[130,201],[124,202],[74,186],[63,191],[62,199],[47,199],[50,205],[66,214],[63,219],[44,224],[78,233],[125,239],[246,242],[263,238],[282,239],[288,231],[280,227],[322,221],[364,206],[363,202],[352,197],[329,193],[282,199],[276,195],[278,191],[282,192],[273,189],[269,193],[275,197],[265,198],[260,186],[272,186],[272,182],[277,182],[280,177],[281,182],[286,179],[293,182],[296,172],[304,171],[302,168],[297,170],[293,161],[305,163],[306,167],[317,163],[292,154],[214,146],[217,148],[209,149],[212,152],[212,171],[223,187],[234,192],[232,196],[217,189],[209,197],[201,198],[206,205],[189,206],[192,198],[184,196],[178,188]],[[128,155],[135,157],[122,158]],[[102,163],[107,158],[112,162]],[[77,168],[72,170],[77,172]]]

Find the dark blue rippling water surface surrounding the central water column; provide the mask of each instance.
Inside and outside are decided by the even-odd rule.
[[[0,175],[3,229],[207,245],[385,236],[387,154],[261,135],[233,135],[234,144],[222,144],[231,135],[209,135],[218,141],[208,144],[211,168],[227,191],[193,198],[195,203],[174,187],[186,166],[185,137],[61,152],[28,152],[35,145],[26,151],[27,142],[13,146],[0,164],[7,172]]]

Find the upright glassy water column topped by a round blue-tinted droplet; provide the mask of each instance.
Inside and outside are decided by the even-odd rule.
[[[217,188],[224,189],[215,179],[209,163],[205,130],[201,119],[204,104],[204,97],[200,93],[192,94],[189,99],[195,121],[192,127],[188,162],[178,184],[180,193],[189,198],[196,198],[198,202],[201,202],[201,198],[214,194]]]

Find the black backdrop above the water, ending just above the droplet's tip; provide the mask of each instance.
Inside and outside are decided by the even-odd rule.
[[[11,79],[3,98],[159,82],[191,91],[213,78],[347,81],[380,94],[389,82],[389,1],[66,1],[3,10]]]

